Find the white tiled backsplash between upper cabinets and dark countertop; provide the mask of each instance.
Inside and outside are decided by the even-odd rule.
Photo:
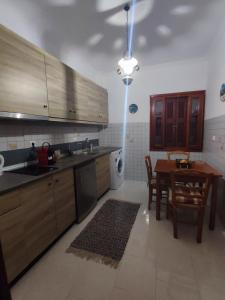
[[[98,139],[96,126],[67,125],[57,123],[39,123],[23,121],[0,121],[0,151],[30,148],[31,142],[41,146],[62,144],[88,139]]]

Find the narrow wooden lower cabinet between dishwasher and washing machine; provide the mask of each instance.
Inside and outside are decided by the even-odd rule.
[[[100,156],[95,160],[97,197],[101,197],[110,187],[110,161],[109,154]]]

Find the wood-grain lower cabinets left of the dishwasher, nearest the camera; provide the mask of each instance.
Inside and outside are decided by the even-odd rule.
[[[0,240],[9,283],[75,221],[73,178],[71,168],[0,196]]]

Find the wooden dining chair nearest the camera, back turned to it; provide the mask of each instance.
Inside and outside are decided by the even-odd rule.
[[[197,242],[201,243],[210,183],[211,175],[203,172],[178,170],[171,173],[167,209],[168,215],[172,216],[174,238],[178,238],[178,211],[195,210],[197,212]]]

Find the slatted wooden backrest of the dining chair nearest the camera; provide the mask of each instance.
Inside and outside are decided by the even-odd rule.
[[[211,175],[193,170],[177,170],[171,173],[172,202],[205,206],[211,183]]]

